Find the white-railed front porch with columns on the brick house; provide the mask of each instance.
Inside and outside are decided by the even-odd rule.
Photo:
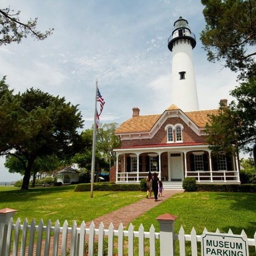
[[[195,177],[197,183],[240,183],[237,155],[212,155],[207,145],[183,148],[122,148],[117,151],[117,163],[112,172],[116,183],[139,183],[148,171],[156,172],[168,188],[175,188],[185,177]]]

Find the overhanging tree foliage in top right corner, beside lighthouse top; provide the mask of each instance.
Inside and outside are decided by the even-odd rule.
[[[225,61],[225,67],[256,75],[256,0],[201,0],[206,26],[201,42],[209,61]]]

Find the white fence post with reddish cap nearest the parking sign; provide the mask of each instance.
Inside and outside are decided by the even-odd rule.
[[[174,222],[177,216],[165,213],[156,218],[159,222],[160,256],[174,256]]]

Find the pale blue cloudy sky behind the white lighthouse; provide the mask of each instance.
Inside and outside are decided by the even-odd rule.
[[[0,77],[14,93],[40,89],[79,105],[84,129],[92,127],[96,79],[106,102],[102,123],[160,114],[170,101],[172,53],[167,47],[174,22],[188,20],[197,44],[193,49],[199,108],[216,109],[222,98],[232,100],[236,73],[209,63],[200,42],[204,6],[198,0],[9,0],[20,21],[38,17],[38,30],[54,28],[46,40],[30,36],[22,43],[0,47]],[[0,159],[0,181],[9,174]]]

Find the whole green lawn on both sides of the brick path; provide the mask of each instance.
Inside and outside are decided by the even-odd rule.
[[[90,192],[74,192],[75,185],[63,187],[34,188],[20,191],[14,187],[0,187],[0,209],[12,208],[18,210],[14,219],[28,218],[36,222],[49,219],[62,224],[73,220],[81,224],[82,220],[93,218],[115,209],[124,207],[144,198],[145,192],[101,192],[94,191],[93,199]],[[163,192],[164,193],[164,192]],[[164,201],[141,217],[133,221],[135,230],[143,224],[148,231],[153,224],[159,230],[156,217],[163,213],[177,216],[175,233],[182,225],[185,233],[190,233],[195,227],[198,234],[206,227],[209,232],[216,228],[221,232],[240,234],[245,230],[248,237],[253,238],[256,231],[256,194],[255,193],[221,193],[221,192],[184,192],[176,194]]]

